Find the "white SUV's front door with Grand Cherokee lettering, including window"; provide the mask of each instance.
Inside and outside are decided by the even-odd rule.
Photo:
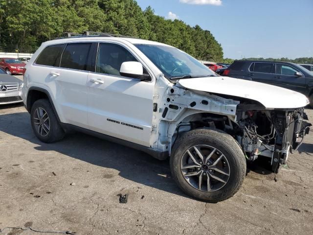
[[[155,79],[121,76],[121,64],[138,61],[122,45],[100,43],[96,71],[88,77],[90,129],[150,147]],[[145,70],[144,70],[145,71]]]

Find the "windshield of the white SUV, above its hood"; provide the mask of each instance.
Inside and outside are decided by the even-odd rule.
[[[168,79],[217,76],[187,53],[169,46],[135,45]]]

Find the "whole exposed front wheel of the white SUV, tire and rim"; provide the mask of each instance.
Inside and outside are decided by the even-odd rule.
[[[185,133],[173,148],[171,172],[188,195],[207,202],[233,196],[243,184],[246,160],[238,143],[219,130]]]

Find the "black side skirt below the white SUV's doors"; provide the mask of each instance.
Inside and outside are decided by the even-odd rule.
[[[60,122],[60,125],[62,126],[62,128],[66,132],[67,131],[82,132],[82,133],[85,133],[87,135],[94,136],[94,137],[97,137],[97,138],[100,138],[100,139],[103,139],[103,140],[106,140],[106,141],[115,142],[115,143],[118,143],[118,144],[130,147],[130,148],[134,148],[134,149],[137,149],[139,151],[145,152],[145,153],[151,155],[152,157],[154,157],[154,158],[156,158],[158,160],[165,160],[168,157],[168,152],[160,152],[160,151],[157,151],[157,150],[155,150],[153,148],[149,148],[149,147],[146,147],[146,146],[143,146],[143,145],[140,145],[140,144],[137,144],[137,143],[133,143],[133,142],[130,142],[130,141],[121,140],[121,139],[118,139],[118,138],[115,138],[115,137],[112,137],[112,136],[108,136],[108,135],[105,135],[105,134],[102,134],[102,133],[99,133],[99,132],[91,131],[91,130],[88,130],[88,129],[85,129],[85,128],[82,128],[82,127],[79,127],[79,126],[75,126],[75,125],[62,123],[62,122]]]

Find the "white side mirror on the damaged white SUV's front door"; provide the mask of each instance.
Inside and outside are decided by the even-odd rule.
[[[150,77],[148,74],[143,74],[142,64],[135,61],[123,62],[119,73],[122,76],[138,78],[141,81],[148,80]]]

